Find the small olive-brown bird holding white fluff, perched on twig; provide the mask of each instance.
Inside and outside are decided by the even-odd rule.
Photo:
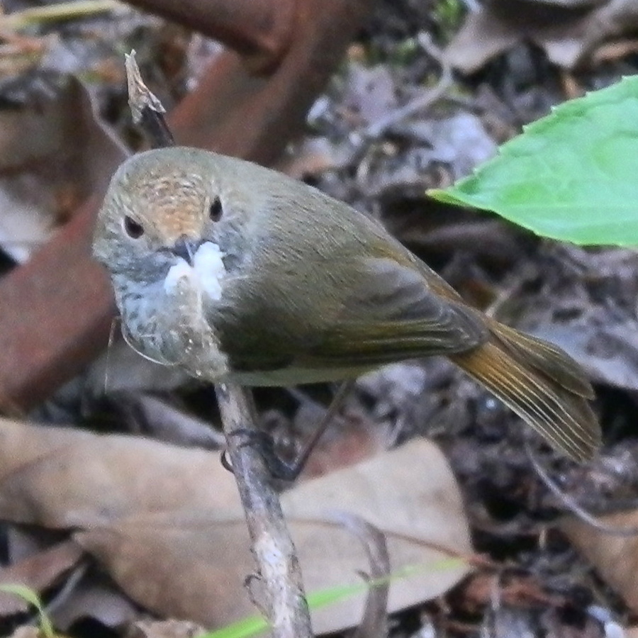
[[[128,342],[191,375],[291,386],[442,354],[574,459],[600,444],[591,385],[561,349],[471,308],[373,218],[256,164],[131,157],[94,255]]]

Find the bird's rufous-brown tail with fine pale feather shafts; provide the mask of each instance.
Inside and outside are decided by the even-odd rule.
[[[600,447],[593,389],[565,352],[491,320],[491,340],[449,357],[537,432],[573,459]]]

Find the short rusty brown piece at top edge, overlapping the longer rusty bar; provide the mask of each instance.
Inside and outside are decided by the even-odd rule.
[[[225,43],[253,72],[276,67],[293,39],[296,0],[128,0]]]

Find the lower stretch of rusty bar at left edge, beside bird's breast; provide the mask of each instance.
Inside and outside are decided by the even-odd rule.
[[[38,254],[0,279],[0,408],[20,413],[46,398],[106,343],[110,284],[89,259],[97,201]]]

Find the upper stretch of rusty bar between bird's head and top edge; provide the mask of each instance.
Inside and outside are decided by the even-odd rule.
[[[171,113],[175,139],[260,164],[275,162],[302,130],[308,108],[374,1],[298,0],[295,37],[276,72],[256,77],[242,57],[223,55],[215,79],[209,77],[197,99],[184,99]]]

